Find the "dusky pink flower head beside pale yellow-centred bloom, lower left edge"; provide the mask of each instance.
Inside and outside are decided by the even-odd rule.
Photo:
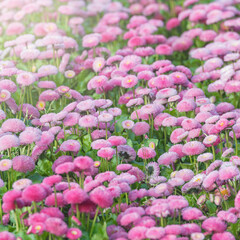
[[[13,169],[17,172],[27,173],[35,168],[34,160],[26,155],[16,156],[12,160]]]

